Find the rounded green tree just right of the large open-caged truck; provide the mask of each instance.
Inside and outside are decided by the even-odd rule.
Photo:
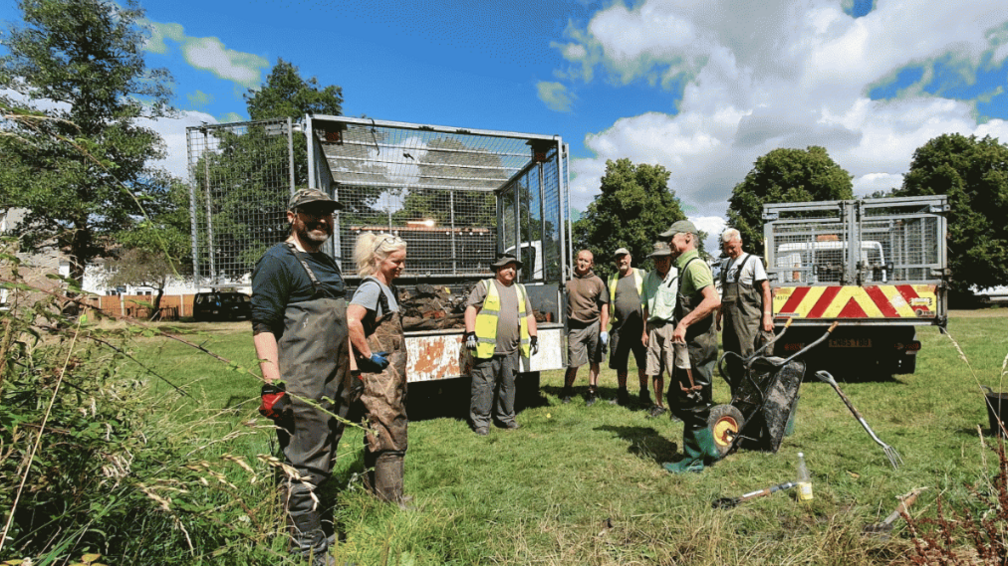
[[[618,248],[630,250],[634,263],[642,264],[657,235],[685,219],[668,177],[661,165],[606,161],[601,192],[574,224],[576,249],[592,251],[600,275],[613,271],[607,260]]]

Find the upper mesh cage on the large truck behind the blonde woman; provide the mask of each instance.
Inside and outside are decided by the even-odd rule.
[[[406,241],[403,277],[486,276],[508,252],[524,263],[522,281],[559,279],[566,185],[555,140],[338,117],[312,129],[320,178],[345,206],[335,241],[346,275],[357,273],[358,237],[388,232]]]

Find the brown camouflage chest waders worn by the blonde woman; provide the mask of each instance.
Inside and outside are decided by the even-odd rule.
[[[374,278],[369,278],[374,279]],[[377,281],[377,280],[375,280]],[[374,467],[374,493],[386,502],[402,503],[403,456],[406,453],[406,344],[402,316],[391,312],[388,297],[379,286],[381,318],[368,324],[371,351],[387,351],[388,367],[380,374],[361,374],[361,403],[368,419],[364,435],[364,465]],[[378,309],[376,308],[375,311]]]

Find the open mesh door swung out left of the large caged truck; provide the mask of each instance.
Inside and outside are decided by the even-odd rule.
[[[286,237],[293,150],[287,126],[282,119],[186,128],[193,270],[200,284],[248,285],[263,252]]]

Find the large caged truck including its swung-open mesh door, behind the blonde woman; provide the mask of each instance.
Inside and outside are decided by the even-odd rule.
[[[518,280],[538,313],[539,351],[520,387],[564,367],[562,292],[572,265],[568,152],[560,136],[308,115],[186,129],[193,271],[201,286],[247,289],[255,262],[287,236],[287,198],[328,191],[344,208],[323,250],[351,288],[357,237],[407,243],[400,289],[453,300],[492,277],[495,256],[523,262]],[[408,331],[407,379],[469,376],[464,328]]]

